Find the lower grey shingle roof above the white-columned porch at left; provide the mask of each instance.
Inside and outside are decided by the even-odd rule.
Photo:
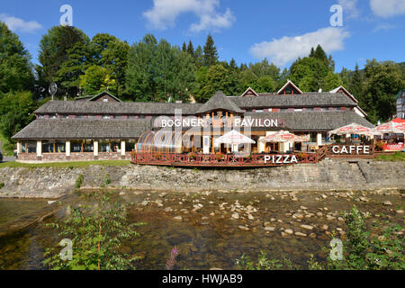
[[[13,139],[133,139],[150,129],[146,119],[37,119]]]

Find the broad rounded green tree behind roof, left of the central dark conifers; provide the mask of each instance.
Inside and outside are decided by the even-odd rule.
[[[195,87],[193,58],[166,40],[147,35],[130,49],[127,92],[143,102],[188,101]]]

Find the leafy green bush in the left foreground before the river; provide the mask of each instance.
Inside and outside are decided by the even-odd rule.
[[[60,238],[73,242],[72,260],[62,260],[60,247],[46,249],[43,263],[54,270],[125,270],[139,259],[121,253],[121,243],[138,237],[135,228],[145,223],[128,224],[126,206],[110,202],[111,193],[103,190],[92,198],[94,206],[74,208],[65,220],[47,224],[58,229]]]

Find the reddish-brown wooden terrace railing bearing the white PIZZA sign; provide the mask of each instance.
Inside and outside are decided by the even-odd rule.
[[[243,157],[233,154],[133,153],[131,162],[159,166],[287,166],[317,163],[318,154],[254,154]]]

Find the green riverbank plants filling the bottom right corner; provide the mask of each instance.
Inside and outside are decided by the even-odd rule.
[[[324,247],[329,255],[326,261],[319,262],[311,255],[308,266],[293,266],[288,259],[269,260],[266,253],[261,252],[257,261],[245,255],[238,258],[236,266],[244,270],[275,270],[275,269],[310,269],[310,270],[403,270],[405,257],[403,254],[404,238],[401,225],[390,225],[388,221],[374,221],[374,226],[382,226],[383,234],[371,236],[365,229],[367,215],[362,214],[356,206],[349,212],[343,212],[347,225],[347,239],[342,246],[342,257],[338,259],[338,246]],[[332,234],[331,239],[336,235]],[[331,245],[332,246],[332,245]]]

